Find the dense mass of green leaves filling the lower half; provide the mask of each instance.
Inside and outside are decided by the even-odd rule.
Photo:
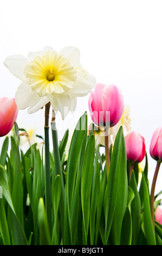
[[[129,178],[122,127],[109,148],[108,178],[93,129],[87,135],[86,113],[67,156],[69,131],[58,142],[55,123],[51,152],[47,127],[42,151],[36,144],[22,151],[18,130],[15,123],[15,135],[4,139],[0,154],[2,245],[162,244],[162,227],[155,221],[153,228],[151,219],[147,155],[140,183],[138,164]]]

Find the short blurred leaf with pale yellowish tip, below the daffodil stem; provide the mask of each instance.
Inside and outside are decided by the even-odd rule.
[[[51,245],[50,231],[43,198],[38,202],[38,225],[40,229],[40,245]]]

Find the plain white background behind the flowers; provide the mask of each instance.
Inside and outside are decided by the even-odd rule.
[[[121,89],[131,109],[132,130],[146,140],[151,185],[156,162],[149,154],[150,141],[162,125],[161,4],[161,0],[0,0],[0,96],[14,97],[20,84],[3,64],[7,56],[27,56],[47,45],[56,51],[78,47],[83,68],[98,83],[114,83]],[[79,99],[77,111],[88,112],[88,96]],[[61,122],[59,115],[57,120]],[[31,115],[20,111],[17,123],[36,125],[43,135],[44,111]],[[161,179],[162,167],[156,192],[162,189]]]

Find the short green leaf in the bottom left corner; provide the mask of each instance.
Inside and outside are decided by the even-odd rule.
[[[3,244],[4,245],[11,245],[9,229],[7,224],[7,217],[5,215],[5,209],[3,205],[3,198],[0,198],[0,234],[2,235]]]

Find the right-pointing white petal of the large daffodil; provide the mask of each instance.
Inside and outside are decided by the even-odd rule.
[[[77,80],[75,86],[68,90],[68,94],[71,97],[86,96],[92,90],[92,84],[87,76],[85,76],[80,70],[76,70]]]

